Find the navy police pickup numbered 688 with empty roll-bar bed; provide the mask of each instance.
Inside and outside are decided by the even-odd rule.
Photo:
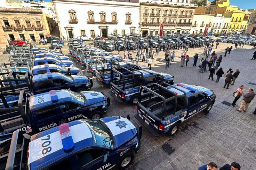
[[[202,86],[183,83],[154,85],[158,86],[158,92],[141,87],[138,113],[134,115],[154,136],[162,133],[174,135],[180,123],[202,111],[209,112],[216,98],[213,91]],[[147,92],[150,95],[143,97]]]

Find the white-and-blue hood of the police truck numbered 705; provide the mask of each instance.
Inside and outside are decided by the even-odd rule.
[[[86,91],[82,92],[87,100],[86,105],[92,105],[94,103],[105,100],[105,96],[101,92]]]

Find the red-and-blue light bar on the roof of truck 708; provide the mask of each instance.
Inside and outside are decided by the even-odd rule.
[[[69,127],[68,127],[68,123],[63,123],[59,126],[59,130],[60,130],[60,137],[61,137],[61,142],[62,142],[62,146],[64,149],[64,152],[68,152],[72,149],[74,149],[74,141],[73,138],[71,136]]]

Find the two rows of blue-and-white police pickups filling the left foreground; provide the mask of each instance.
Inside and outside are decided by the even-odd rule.
[[[99,84],[110,85],[109,94],[114,99],[137,104],[135,118],[155,136],[174,135],[180,123],[201,111],[209,112],[215,102],[213,91],[183,83],[174,85],[170,74],[148,70],[90,46],[72,43],[69,47],[87,74],[96,75]],[[83,72],[71,76],[57,69],[35,72],[39,66],[45,70],[45,66],[58,64],[33,67],[25,60],[29,55],[32,62],[52,55],[58,61],[68,61],[67,56],[42,48],[30,53],[22,50],[19,57],[10,57],[10,61],[16,60],[14,63],[0,65],[0,168],[129,167],[139,152],[142,135],[133,116],[103,118],[110,99],[103,92],[90,91],[92,79]]]

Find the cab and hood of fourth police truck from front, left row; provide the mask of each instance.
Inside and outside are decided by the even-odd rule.
[[[77,67],[69,67],[72,75],[83,75],[83,71]],[[47,72],[67,74],[67,67],[60,67],[55,64],[44,64],[33,67],[33,75]]]

